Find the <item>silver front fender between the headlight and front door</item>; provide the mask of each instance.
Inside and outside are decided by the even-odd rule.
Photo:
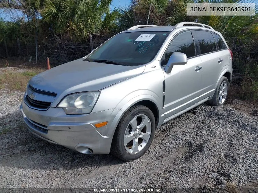
[[[159,68],[104,88],[101,90],[92,113],[108,109],[124,110],[126,109],[124,105],[137,101],[137,97],[153,100],[152,102],[161,108],[163,80],[164,74],[162,69]]]

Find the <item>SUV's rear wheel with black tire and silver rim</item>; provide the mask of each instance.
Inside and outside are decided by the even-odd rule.
[[[224,89],[224,90],[222,89],[222,92],[221,92],[221,88],[223,88],[225,83],[226,83],[227,91],[226,91],[226,89]],[[219,84],[214,92],[214,95],[213,95],[212,99],[208,101],[208,104],[213,105],[213,106],[224,105],[227,100],[228,91],[229,91],[228,79],[227,79],[227,77],[221,77]]]

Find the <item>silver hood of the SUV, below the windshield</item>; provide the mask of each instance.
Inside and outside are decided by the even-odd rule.
[[[29,84],[43,91],[55,92],[57,95],[99,91],[142,73],[144,68],[145,65],[121,66],[78,59],[36,75]]]

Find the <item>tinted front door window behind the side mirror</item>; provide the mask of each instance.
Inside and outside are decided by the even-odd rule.
[[[187,55],[187,58],[195,56],[194,40],[191,31],[182,32],[173,39],[165,53],[165,61],[162,62],[162,65],[168,63],[169,57],[173,52],[182,52]]]

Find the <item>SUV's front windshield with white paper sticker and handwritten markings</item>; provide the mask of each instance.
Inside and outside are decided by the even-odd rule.
[[[127,66],[146,64],[154,59],[169,33],[167,31],[144,31],[117,34],[94,50],[86,60],[90,62],[112,61],[113,64]]]

